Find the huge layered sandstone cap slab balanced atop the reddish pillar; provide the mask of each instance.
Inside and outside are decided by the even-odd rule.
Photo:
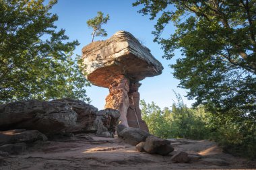
[[[107,87],[117,75],[141,81],[162,73],[161,63],[146,46],[129,32],[119,31],[105,41],[92,42],[82,49],[87,78],[92,84]]]

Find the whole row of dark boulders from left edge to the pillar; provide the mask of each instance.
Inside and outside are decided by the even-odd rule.
[[[93,105],[67,98],[0,105],[0,130],[38,130],[47,136],[72,132],[104,132],[104,136],[113,136],[118,119],[116,110],[98,112]],[[103,130],[99,129],[99,124]],[[31,132],[23,133],[23,137],[32,138]]]

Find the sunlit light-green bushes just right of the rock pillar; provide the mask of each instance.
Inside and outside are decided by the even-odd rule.
[[[172,110],[160,108],[152,102],[141,101],[141,115],[147,123],[150,133],[161,138],[209,138],[207,126],[208,114],[203,108],[190,109],[183,101],[172,104]]]

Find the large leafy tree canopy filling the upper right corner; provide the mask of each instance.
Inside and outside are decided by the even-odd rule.
[[[164,58],[181,50],[183,57],[170,67],[195,105],[256,120],[255,0],[137,0],[133,5],[157,18],[152,34]],[[163,38],[170,22],[176,30]]]

